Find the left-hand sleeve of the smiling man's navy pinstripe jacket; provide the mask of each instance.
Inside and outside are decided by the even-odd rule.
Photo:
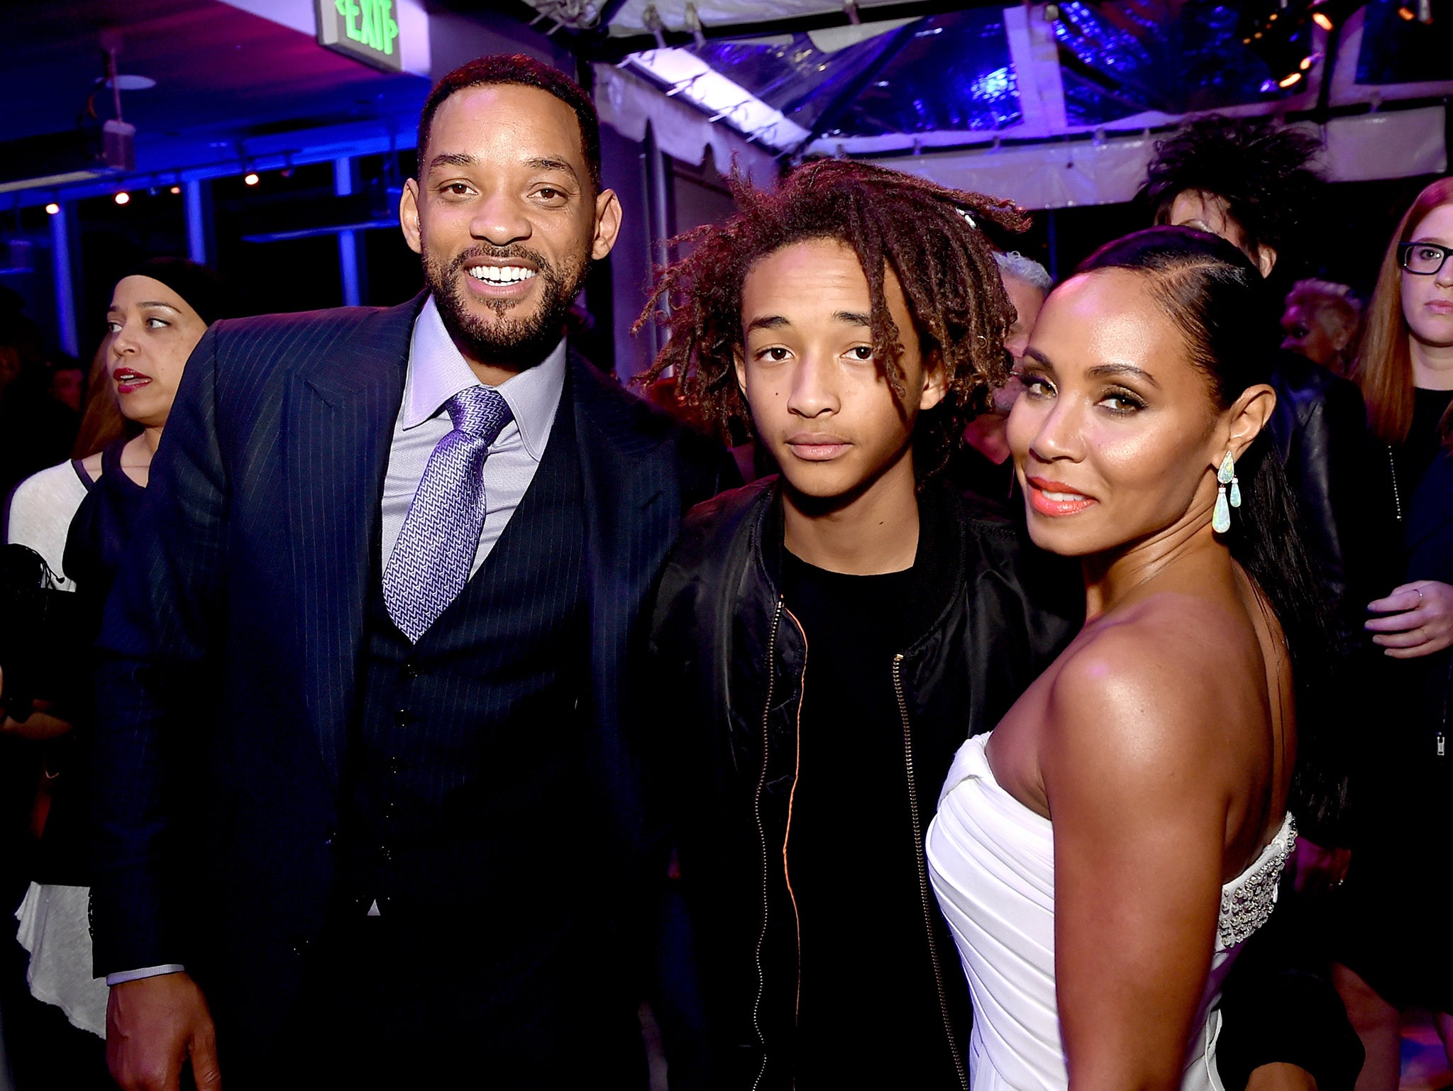
[[[187,854],[177,818],[186,805],[186,754],[206,729],[201,693],[225,590],[216,341],[212,327],[187,362],[99,642],[97,975],[187,960],[179,867]]]

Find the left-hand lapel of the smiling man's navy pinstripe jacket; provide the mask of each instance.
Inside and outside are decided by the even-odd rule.
[[[304,700],[334,787],[357,697],[379,497],[420,295],[299,365],[283,427]]]

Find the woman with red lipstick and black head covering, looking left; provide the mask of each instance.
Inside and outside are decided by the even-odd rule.
[[[131,427],[94,455],[20,482],[10,501],[6,540],[35,549],[60,585],[77,593],[84,629],[74,633],[76,691],[57,694],[54,706],[38,707],[22,721],[4,721],[6,732],[44,739],[46,747],[48,812],[32,883],[16,915],[17,938],[31,953],[31,991],[60,1008],[35,1005],[22,1017],[33,1024],[33,1033],[10,1033],[12,1042],[28,1043],[23,1055],[13,1058],[22,1085],[29,1085],[32,1053],[35,1075],[44,1074],[52,1085],[110,1085],[102,1042],[71,1029],[105,1034],[108,999],[105,981],[92,978],[87,928],[89,649],[182,372],[225,304],[216,273],[183,259],[151,259],[118,280],[106,309],[102,354],[110,394]],[[64,1078],[58,1066],[64,1066]]]

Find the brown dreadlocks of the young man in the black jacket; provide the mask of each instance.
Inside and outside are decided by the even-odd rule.
[[[673,247],[695,248],[657,270],[632,333],[654,318],[670,340],[638,382],[651,384],[671,368],[677,395],[718,434],[729,436],[732,424],[750,427],[737,382],[737,359],[745,350],[741,292],[747,275],[783,247],[835,240],[857,254],[867,277],[873,356],[883,362],[899,401],[905,397],[904,349],[883,296],[885,270],[892,269],[902,286],[923,359],[937,354],[944,397],[918,418],[914,468],[920,481],[943,469],[968,420],[987,408],[989,389],[1008,376],[1004,337],[1014,305],[974,218],[1017,232],[1029,225],[1024,211],[851,160],[806,163],[776,190],[757,189],[735,170],[728,184],[738,212],[725,224],[673,238]],[[661,302],[668,311],[657,311]]]

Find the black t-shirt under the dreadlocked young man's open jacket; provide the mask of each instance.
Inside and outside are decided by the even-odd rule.
[[[894,689],[894,657],[943,607],[926,583],[923,556],[901,572],[844,575],[783,552],[786,607],[806,636],[785,847],[801,952],[793,1068],[804,1091],[879,1076],[958,1085],[928,956]],[[918,784],[930,815],[937,790]],[[953,952],[943,972],[962,972]]]

